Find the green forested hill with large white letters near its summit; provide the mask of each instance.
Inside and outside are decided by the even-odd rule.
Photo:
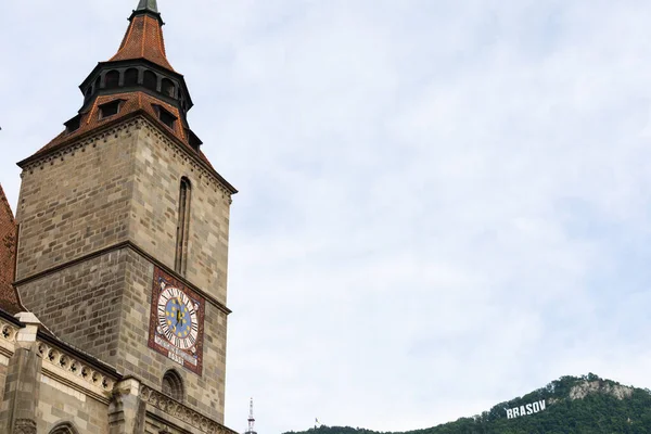
[[[623,386],[595,374],[563,376],[489,411],[403,434],[651,433],[651,391]],[[380,434],[348,426],[320,426],[286,434]],[[382,433],[397,434],[397,433]]]

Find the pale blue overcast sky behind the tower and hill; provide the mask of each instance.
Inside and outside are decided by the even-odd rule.
[[[0,182],[137,0],[0,7]],[[228,426],[426,427],[565,374],[651,387],[651,3],[159,0],[240,189]]]

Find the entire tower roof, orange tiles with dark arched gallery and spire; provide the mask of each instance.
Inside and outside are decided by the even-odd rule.
[[[24,167],[94,130],[140,114],[189,151],[232,193],[237,193],[201,151],[202,142],[188,125],[187,112],[192,107],[192,99],[183,76],[175,72],[167,61],[163,21],[156,1],[139,0],[129,21],[117,53],[108,62],[99,63],[81,84],[85,101],[78,115],[65,123],[66,129],[62,133],[34,155],[20,162],[18,166]],[[141,69],[140,74],[131,76],[129,81],[128,73],[137,68]],[[153,77],[153,81],[148,81],[148,77]],[[104,104],[115,101],[119,101],[116,114],[100,115]]]

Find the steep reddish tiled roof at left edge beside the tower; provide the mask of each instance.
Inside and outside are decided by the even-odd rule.
[[[0,309],[15,315],[25,311],[13,286],[17,227],[0,186]]]

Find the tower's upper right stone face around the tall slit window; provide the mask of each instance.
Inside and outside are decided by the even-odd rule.
[[[191,182],[186,278],[226,305],[230,193],[156,127],[139,130],[129,238],[174,269],[181,178]]]

